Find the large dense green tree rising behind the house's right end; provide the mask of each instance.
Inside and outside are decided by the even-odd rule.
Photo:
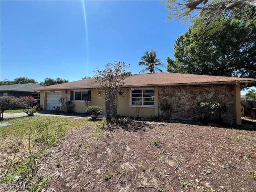
[[[256,77],[256,7],[247,14],[234,8],[214,21],[222,30],[206,28],[200,18],[174,44],[175,60],[168,57],[167,71],[190,74]],[[229,15],[229,16],[230,16]]]

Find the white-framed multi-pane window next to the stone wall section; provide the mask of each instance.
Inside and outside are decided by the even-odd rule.
[[[154,89],[135,89],[131,91],[131,106],[155,106]]]

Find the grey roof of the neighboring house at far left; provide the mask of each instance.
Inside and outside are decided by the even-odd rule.
[[[35,90],[39,90],[41,85],[34,84],[34,83],[25,83],[25,84],[12,84],[12,85],[1,85],[0,91],[1,92],[8,92],[8,91],[22,91],[22,92],[35,92]]]

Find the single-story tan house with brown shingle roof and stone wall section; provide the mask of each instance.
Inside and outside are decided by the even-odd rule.
[[[75,104],[74,112],[86,112],[83,97],[91,98],[91,105],[101,106],[106,113],[108,102],[99,96],[93,78],[41,87],[40,105],[44,110],[60,106],[59,98],[68,96]],[[193,120],[198,102],[217,102],[228,107],[222,113],[224,123],[241,124],[240,88],[256,83],[252,78],[234,78],[179,73],[136,74],[126,78],[123,88],[130,91],[121,98],[118,115],[136,116],[138,102],[140,117],[162,116],[162,100],[171,103],[171,118]],[[104,92],[101,90],[100,92]]]

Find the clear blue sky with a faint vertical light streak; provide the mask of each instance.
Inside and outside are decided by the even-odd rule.
[[[85,9],[84,9],[84,8]],[[168,20],[160,1],[0,1],[1,80],[94,76],[114,60],[138,74],[148,50],[166,64],[189,25]],[[166,69],[164,68],[164,71]]]

